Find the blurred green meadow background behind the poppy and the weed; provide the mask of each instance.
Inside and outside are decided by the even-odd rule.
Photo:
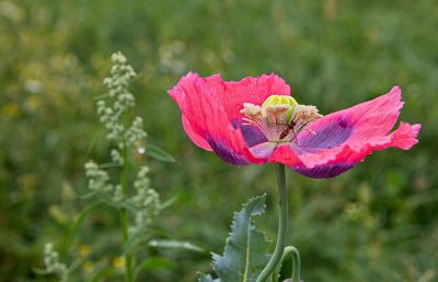
[[[51,281],[32,269],[44,243],[62,246],[84,204],[85,161],[108,160],[93,96],[117,50],[140,73],[131,90],[149,142],[177,160],[141,160],[162,198],[177,196],[160,225],[215,252],[232,211],[263,192],[257,223],[275,238],[275,167],[237,168],[196,148],[166,95],[182,74],[276,72],[323,114],[400,85],[401,118],[423,125],[419,144],[374,153],[335,179],[288,172],[289,243],[307,282],[438,281],[437,28],[436,0],[0,0],[0,281]],[[88,220],[69,254],[85,257],[73,281],[118,256],[115,219],[102,210]],[[160,255],[174,265],[147,281],[210,270],[208,252]]]

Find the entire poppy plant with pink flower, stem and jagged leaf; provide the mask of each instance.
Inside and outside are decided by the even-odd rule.
[[[319,114],[300,105],[286,82],[275,74],[224,82],[219,75],[188,73],[169,94],[182,113],[184,130],[198,146],[214,151],[232,165],[278,163],[279,226],[275,250],[268,255],[263,233],[252,216],[261,214],[265,197],[251,199],[234,215],[222,256],[212,256],[217,279],[201,274],[200,282],[277,282],[278,266],[293,255],[291,282],[300,281],[300,257],[286,247],[288,197],[285,165],[312,178],[337,176],[376,150],[411,149],[420,125],[401,122],[401,90],[351,108]],[[283,280],[283,279],[280,279]]]

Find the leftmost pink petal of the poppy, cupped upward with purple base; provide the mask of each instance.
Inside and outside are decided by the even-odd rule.
[[[188,73],[169,94],[180,106],[184,130],[195,144],[215,151],[230,164],[262,164],[265,160],[252,155],[241,129],[228,118],[220,92],[208,80]]]

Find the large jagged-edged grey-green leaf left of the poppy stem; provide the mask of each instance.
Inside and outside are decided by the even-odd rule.
[[[221,282],[253,282],[269,260],[269,243],[265,234],[256,231],[253,215],[265,211],[266,195],[252,198],[242,210],[234,213],[231,234],[227,239],[222,256],[212,255],[212,267]],[[212,281],[209,275],[201,275],[201,282]]]

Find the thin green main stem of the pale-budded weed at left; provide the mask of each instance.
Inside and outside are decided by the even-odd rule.
[[[126,146],[126,142],[124,142],[123,148],[123,171],[122,171],[122,192],[124,195],[124,199],[128,197],[128,149]],[[128,227],[128,211],[126,208],[120,209],[120,219],[122,219],[122,235],[124,246],[129,238]],[[125,282],[134,282],[134,272],[132,272],[132,256],[131,254],[125,254]]]

